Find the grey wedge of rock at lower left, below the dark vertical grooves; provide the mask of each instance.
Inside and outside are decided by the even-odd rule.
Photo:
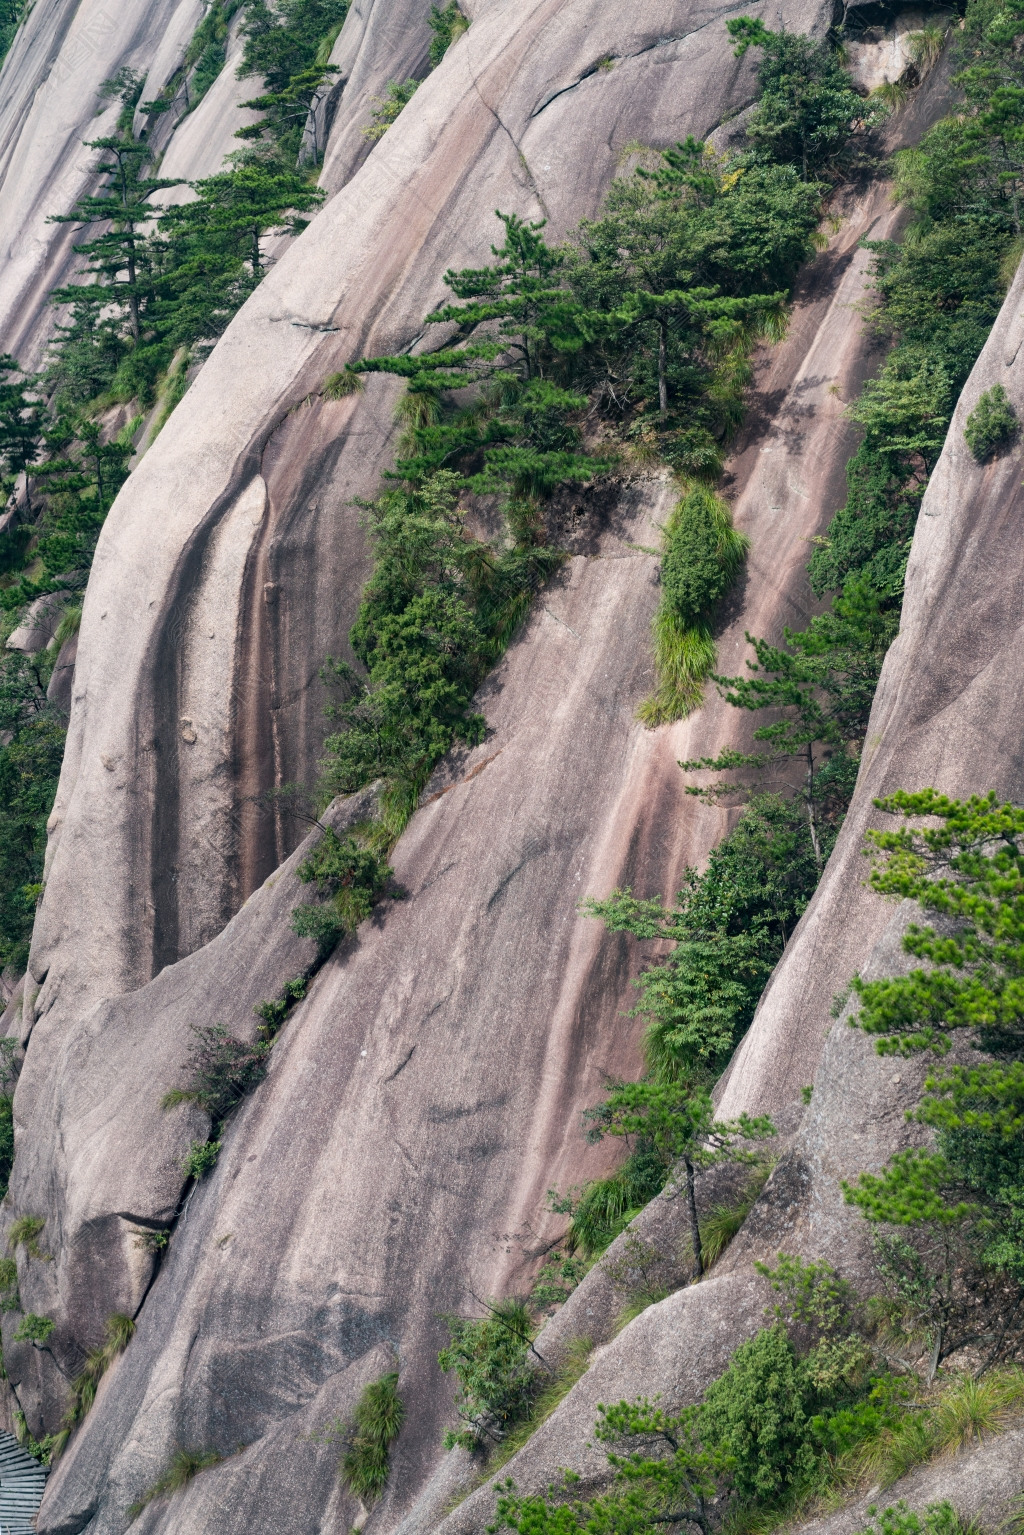
[[[338,800],[325,823],[342,832],[373,814],[375,791]],[[66,1382],[104,1339],[112,1312],[135,1315],[155,1259],[146,1231],[169,1226],[184,1190],[181,1160],[209,1119],[195,1105],[160,1107],[187,1082],[190,1025],[223,1022],[252,1039],[253,1007],[304,975],[315,946],[290,927],[310,892],[295,870],[310,837],[256,890],[203,955],[170,966],[135,996],[100,1002],[60,1039],[45,1062],[31,1051],[15,1096],[17,1162],[3,1225],[46,1214],[46,1259],[18,1249],[26,1311],[51,1315],[46,1348],[14,1342],[18,1317],[6,1317],[5,1360],[29,1426],[41,1434],[63,1412]],[[45,1067],[43,1071],[38,1068]],[[48,1145],[38,1133],[48,1127]],[[57,1194],[60,1190],[60,1194]]]

